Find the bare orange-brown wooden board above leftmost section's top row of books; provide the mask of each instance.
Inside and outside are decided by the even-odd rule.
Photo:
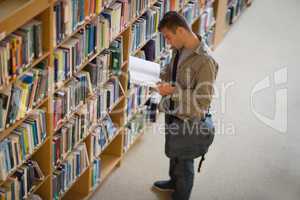
[[[48,7],[48,0],[0,0],[0,40]]]

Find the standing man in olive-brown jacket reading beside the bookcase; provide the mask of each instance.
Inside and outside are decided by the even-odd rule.
[[[163,96],[160,109],[165,112],[170,180],[157,181],[154,187],[173,191],[173,200],[188,200],[194,182],[194,159],[204,158],[213,140],[195,127],[208,127],[206,116],[218,65],[205,51],[201,37],[178,13],[168,12],[159,23],[159,31],[173,48],[171,62],[161,72],[163,82],[157,85]]]

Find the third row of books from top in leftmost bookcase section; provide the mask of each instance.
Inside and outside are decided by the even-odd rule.
[[[0,181],[16,170],[47,137],[46,113],[37,109],[0,142]]]

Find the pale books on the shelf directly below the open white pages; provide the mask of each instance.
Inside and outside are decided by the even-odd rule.
[[[132,116],[146,103],[149,97],[149,88],[145,86],[133,85],[129,90],[129,96],[127,97],[127,107],[126,107],[126,121],[129,121]]]

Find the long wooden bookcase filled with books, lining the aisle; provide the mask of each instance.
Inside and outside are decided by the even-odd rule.
[[[172,0],[166,1],[169,2],[166,4],[164,0],[134,0],[131,6],[140,3],[134,6],[136,12],[131,9],[133,13],[129,13],[130,17],[122,17],[120,27],[110,28],[111,32],[115,32],[108,38],[106,23],[111,20],[108,14],[118,16],[126,12],[126,0],[119,3],[79,0],[76,1],[76,9],[71,2],[0,0],[0,70],[1,74],[7,74],[0,75],[0,114],[8,119],[0,124],[0,162],[5,162],[5,169],[8,168],[7,172],[0,170],[2,196],[11,195],[9,188],[12,186],[25,185],[25,175],[18,173],[30,160],[37,163],[43,178],[34,182],[25,194],[18,194],[27,199],[32,198],[31,195],[49,200],[89,199],[121,165],[128,150],[145,131],[144,127],[137,128],[131,137],[127,124],[137,123],[134,120],[149,98],[149,91],[139,88],[146,97],[127,111],[130,98],[137,98],[136,88],[129,88],[128,83],[129,56],[138,56],[153,40],[160,44],[155,62],[163,65],[166,57],[170,56],[170,49],[162,45],[157,27],[132,49],[133,27],[137,22],[143,25],[147,17],[162,16],[168,9],[177,10],[186,16],[194,32],[203,31],[203,27],[204,33],[211,27],[215,28],[212,31],[215,33],[210,36],[214,38],[214,44],[209,45],[211,47],[221,41],[222,34],[219,32],[225,30],[225,0],[211,2],[215,20],[210,23],[203,16],[209,12],[199,10],[197,1]],[[120,9],[120,5],[124,10]],[[73,9],[82,13],[75,13]],[[61,27],[60,23],[64,26]],[[86,48],[79,48],[82,46]],[[82,49],[84,51],[80,51]],[[9,66],[6,64],[8,61]],[[94,71],[89,70],[93,70],[93,66],[97,66],[97,70],[102,66],[104,71],[100,71],[101,74],[109,70],[107,77],[101,77],[99,85],[92,84]],[[10,67],[9,70],[3,71],[6,67]],[[98,75],[95,77],[98,81]],[[16,90],[18,93],[11,89],[15,87],[20,88]],[[20,99],[18,96],[11,97],[15,93]],[[19,103],[11,104],[9,100],[4,106],[6,97]],[[106,100],[102,99],[104,97]],[[9,110],[14,106],[20,110]],[[98,113],[99,110],[101,113]],[[15,116],[3,111],[13,111]],[[105,144],[96,152],[95,145],[99,145],[97,142],[100,140]],[[18,152],[24,154],[22,160],[16,158]],[[5,158],[10,160],[9,165]],[[94,174],[97,173],[100,177],[96,179]],[[20,177],[16,174],[23,179],[18,179]],[[60,182],[61,178],[66,179],[68,184]]]

